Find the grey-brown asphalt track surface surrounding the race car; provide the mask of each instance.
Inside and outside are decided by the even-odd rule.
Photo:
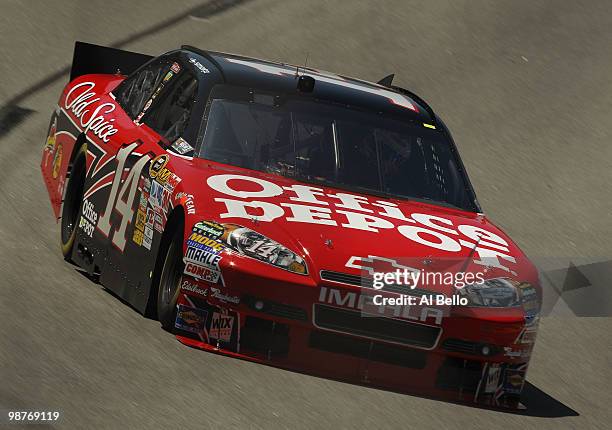
[[[185,43],[396,73],[449,125],[485,212],[528,255],[580,260],[584,297],[610,288],[608,0],[226,3],[1,1],[0,409],[59,410],[57,428],[610,428],[609,296],[599,317],[544,318],[509,414],[187,348],[63,262],[38,166],[74,41]]]

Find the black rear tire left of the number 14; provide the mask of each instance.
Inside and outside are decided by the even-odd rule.
[[[83,201],[85,186],[85,157],[87,146],[81,145],[74,157],[62,204],[62,221],[60,226],[60,245],[64,260],[72,261],[72,248],[76,237],[76,226],[79,221],[79,209]]]

